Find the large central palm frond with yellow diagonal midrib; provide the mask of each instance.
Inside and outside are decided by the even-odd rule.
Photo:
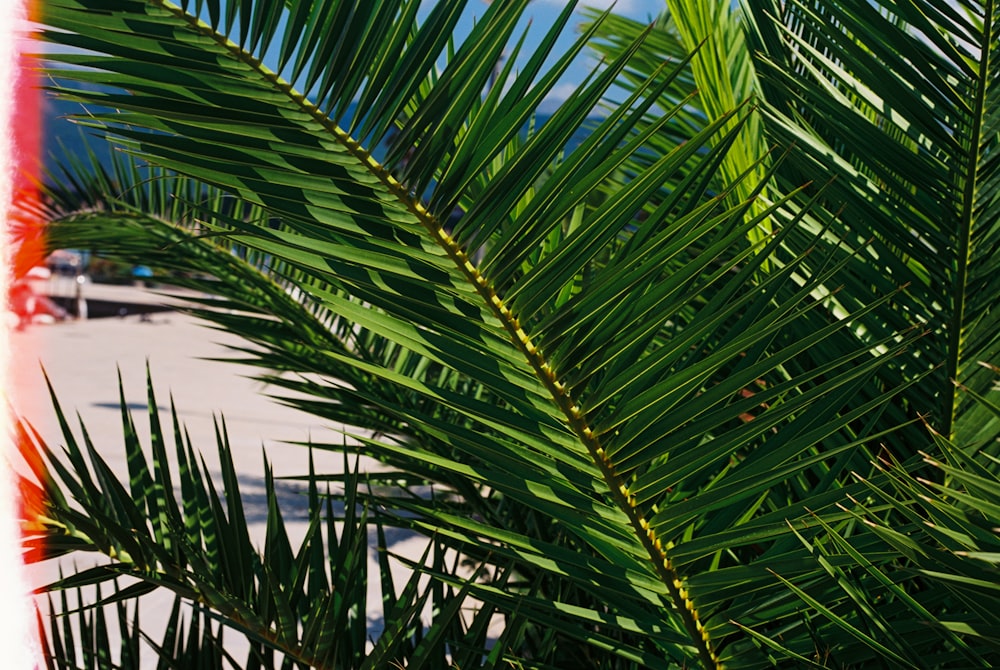
[[[519,141],[559,67],[542,71],[539,52],[525,73],[482,91],[525,4],[494,3],[454,49],[463,3],[438,3],[419,28],[417,2],[289,3],[282,24],[278,2],[189,12],[53,0],[44,22],[47,39],[85,50],[53,56],[88,68],[60,77],[123,91],[57,87],[119,110],[91,125],[194,180],[185,183],[265,214],[203,220],[226,244],[277,259],[282,281],[272,285],[299,292],[247,299],[253,319],[214,318],[253,335],[273,311],[285,330],[257,335],[270,349],[263,364],[348,380],[337,402],[371,408],[378,421],[364,425],[386,433],[359,435],[363,450],[460,495],[376,497],[407,513],[398,523],[513,566],[499,573],[509,577],[462,585],[510,617],[503,653],[517,659],[514,643],[535,638],[539,663],[576,649],[608,667],[753,665],[756,648],[730,620],[768,631],[798,621],[797,598],[764,566],[818,574],[788,521],[806,537],[818,527],[810,510],[851,522],[834,507],[841,481],[867,471],[866,443],[883,430],[873,417],[906,386],[862,390],[908,336],[839,344],[837,333],[893,296],[829,316],[815,296],[854,256],[821,233],[812,257],[790,251],[810,201],[794,190],[748,200],[772,179],[766,164],[744,166],[705,197],[743,110],[654,154],[590,206],[591,191],[687,111],[681,102],[640,126],[674,81],[653,78],[561,157],[636,42]],[[273,50],[285,79],[262,64]],[[348,119],[355,99],[362,111]],[[383,142],[379,163],[372,152]],[[201,187],[192,188],[203,211]],[[464,215],[449,233],[456,206]],[[775,234],[749,244],[765,222]],[[121,223],[148,221],[133,207],[108,230]],[[152,229],[160,240],[183,234],[178,254],[195,243]],[[218,279],[249,276],[235,261],[223,267]],[[223,292],[228,301],[236,289]],[[320,315],[305,320],[317,334],[301,355],[282,321],[298,309]],[[358,346],[355,327],[376,334],[379,355]],[[810,352],[833,341],[836,355],[813,364]],[[389,345],[440,374],[391,365],[381,355]],[[322,413],[322,384],[295,386],[318,396],[303,406]],[[470,515],[473,505],[489,516]],[[498,511],[511,507],[531,522],[511,525]]]

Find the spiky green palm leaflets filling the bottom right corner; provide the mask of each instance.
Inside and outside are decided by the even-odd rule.
[[[988,366],[987,366],[988,367]],[[972,402],[994,415],[995,407]],[[781,648],[824,667],[989,668],[1000,653],[995,459],[932,431],[924,475],[886,462],[882,484],[845,503],[861,532],[805,541],[827,579],[787,581],[813,619],[812,645]],[[933,481],[932,481],[933,480]],[[888,560],[886,559],[888,557]],[[780,576],[780,570],[776,570]],[[750,631],[751,634],[753,631]]]

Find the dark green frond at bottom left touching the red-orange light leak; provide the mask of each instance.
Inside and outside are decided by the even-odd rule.
[[[397,591],[383,526],[369,518],[359,498],[356,471],[345,469],[338,476],[338,503],[329,491],[321,494],[315,477],[310,479],[300,492],[308,499],[307,530],[301,545],[293,547],[281,511],[289,501],[276,493],[265,462],[266,529],[262,541],[252,539],[225,425],[217,430],[220,490],[173,410],[164,417],[172,422],[175,443],[168,447],[170,432],[161,423],[151,384],[149,408],[150,444],[143,445],[122,398],[127,484],[119,482],[121,474],[98,453],[84,426],[82,440],[76,437],[58,403],[61,454],[30,426],[18,426],[27,466],[19,481],[27,501],[26,559],[80,551],[113,559],[78,568],[46,587],[63,590],[61,607],[53,608],[60,616],[53,616],[43,639],[50,667],[140,667],[149,657],[142,643],[151,646],[162,668],[270,668],[289,661],[309,667],[383,667],[421,655],[443,658],[446,643],[484,646],[489,607],[479,606],[462,620],[458,614],[465,596],[432,589],[419,574]],[[377,536],[375,547],[371,533]],[[372,549],[379,556],[375,575],[368,574]],[[443,565],[442,558],[435,552],[428,564]],[[381,603],[369,602],[369,578],[382,583]],[[130,585],[123,587],[122,580]],[[100,585],[108,582],[114,591],[102,598]],[[146,632],[139,625],[139,605],[129,612],[124,603],[141,604],[142,596],[157,587],[173,591],[177,599],[166,629]],[[67,590],[77,592],[72,607]],[[375,618],[382,619],[385,635],[369,644],[369,619]],[[109,635],[109,619],[117,624],[117,645]],[[212,625],[213,620],[225,626]],[[446,635],[429,633],[428,624]],[[229,639],[246,638],[244,657],[227,650],[227,629]]]

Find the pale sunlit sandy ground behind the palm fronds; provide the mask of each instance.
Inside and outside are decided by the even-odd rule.
[[[149,294],[139,289],[127,291],[133,292],[137,300],[149,299]],[[262,448],[267,451],[276,477],[294,476],[307,472],[307,450],[283,441],[311,439],[339,444],[344,439],[338,432],[339,426],[328,426],[316,417],[265,397],[263,386],[247,378],[254,368],[203,360],[228,355],[223,345],[238,344],[241,340],[209,329],[180,312],[156,313],[149,321],[127,316],[32,325],[24,331],[11,332],[10,339],[12,365],[7,388],[12,390],[10,401],[17,414],[27,418],[50,444],[62,444],[42,375],[44,365],[64,411],[71,416],[79,413],[97,449],[119,473],[127,472],[118,397],[119,369],[140,438],[145,440],[148,435],[145,413],[148,361],[157,404],[163,410],[161,419],[169,421],[172,393],[192,444],[204,453],[213,474],[218,473],[213,417],[224,415],[255,541],[263,537],[266,516]],[[169,424],[166,426],[169,446],[172,432]],[[340,454],[317,452],[315,457],[318,472],[342,470]],[[303,490],[298,483],[282,484],[283,513],[293,546],[305,530]],[[419,539],[403,538],[390,550],[417,557],[423,546]],[[375,577],[375,554],[369,555],[370,574]],[[82,561],[78,565],[86,565],[86,557],[78,561]],[[32,587],[57,576],[55,561],[28,566]],[[402,579],[400,575],[397,581]],[[369,591],[369,602],[379,603],[377,578],[369,582]],[[154,622],[157,617],[166,621],[171,603],[172,597],[166,592],[146,596],[141,608],[143,627],[156,630]],[[371,612],[369,624],[372,634],[381,629],[380,619]],[[227,639],[232,641],[235,637]],[[155,662],[152,655],[148,660],[152,667]]]

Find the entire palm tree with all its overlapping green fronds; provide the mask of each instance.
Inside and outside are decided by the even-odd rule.
[[[310,534],[272,499],[258,554],[231,471],[178,438],[172,474],[154,399],[127,486],[25,428],[26,546],[111,559],[53,589],[133,580],[81,596],[122,659],[120,603],[172,589],[151,644],[182,665],[995,664],[996,3],[677,0],[546,67],[570,5],[485,95],[527,0],[458,45],[464,3],[419,4],[46,3],[79,49],[54,88],[125,154],[64,168],[52,239],[210,285],[197,313],[387,471],[308,473]],[[370,643],[368,515],[431,538],[401,588],[383,560]]]

